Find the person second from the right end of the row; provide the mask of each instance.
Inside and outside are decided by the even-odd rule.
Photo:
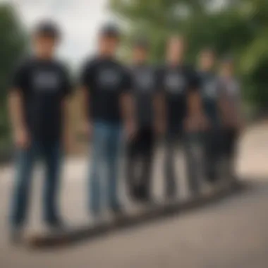
[[[199,75],[203,109],[209,119],[209,127],[205,131],[204,167],[205,178],[209,183],[219,179],[219,159],[221,148],[221,131],[219,120],[219,90],[217,74],[214,71],[215,53],[211,48],[205,48],[199,55]]]

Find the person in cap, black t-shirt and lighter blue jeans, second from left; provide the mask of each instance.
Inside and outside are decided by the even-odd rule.
[[[130,74],[116,59],[119,41],[117,26],[104,25],[99,33],[97,55],[85,63],[80,78],[83,121],[92,135],[89,204],[93,219],[97,221],[103,215],[102,179],[106,184],[104,195],[107,195],[109,209],[116,216],[122,213],[118,197],[122,121],[127,138],[135,131]]]

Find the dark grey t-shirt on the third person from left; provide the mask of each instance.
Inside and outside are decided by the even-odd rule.
[[[151,126],[154,114],[152,101],[158,88],[156,70],[147,64],[140,64],[132,66],[131,71],[138,126]]]

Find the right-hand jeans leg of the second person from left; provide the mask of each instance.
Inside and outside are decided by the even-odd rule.
[[[106,145],[106,161],[108,166],[107,190],[109,207],[114,211],[120,209],[118,197],[118,168],[119,152],[121,145],[121,128],[109,126],[109,136]]]

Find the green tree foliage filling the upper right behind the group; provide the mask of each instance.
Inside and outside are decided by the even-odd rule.
[[[129,44],[137,32],[152,41],[152,61],[161,62],[166,38],[188,39],[188,60],[202,47],[219,56],[236,56],[245,99],[261,108],[268,104],[268,1],[225,0],[110,0],[111,10],[128,24]]]

